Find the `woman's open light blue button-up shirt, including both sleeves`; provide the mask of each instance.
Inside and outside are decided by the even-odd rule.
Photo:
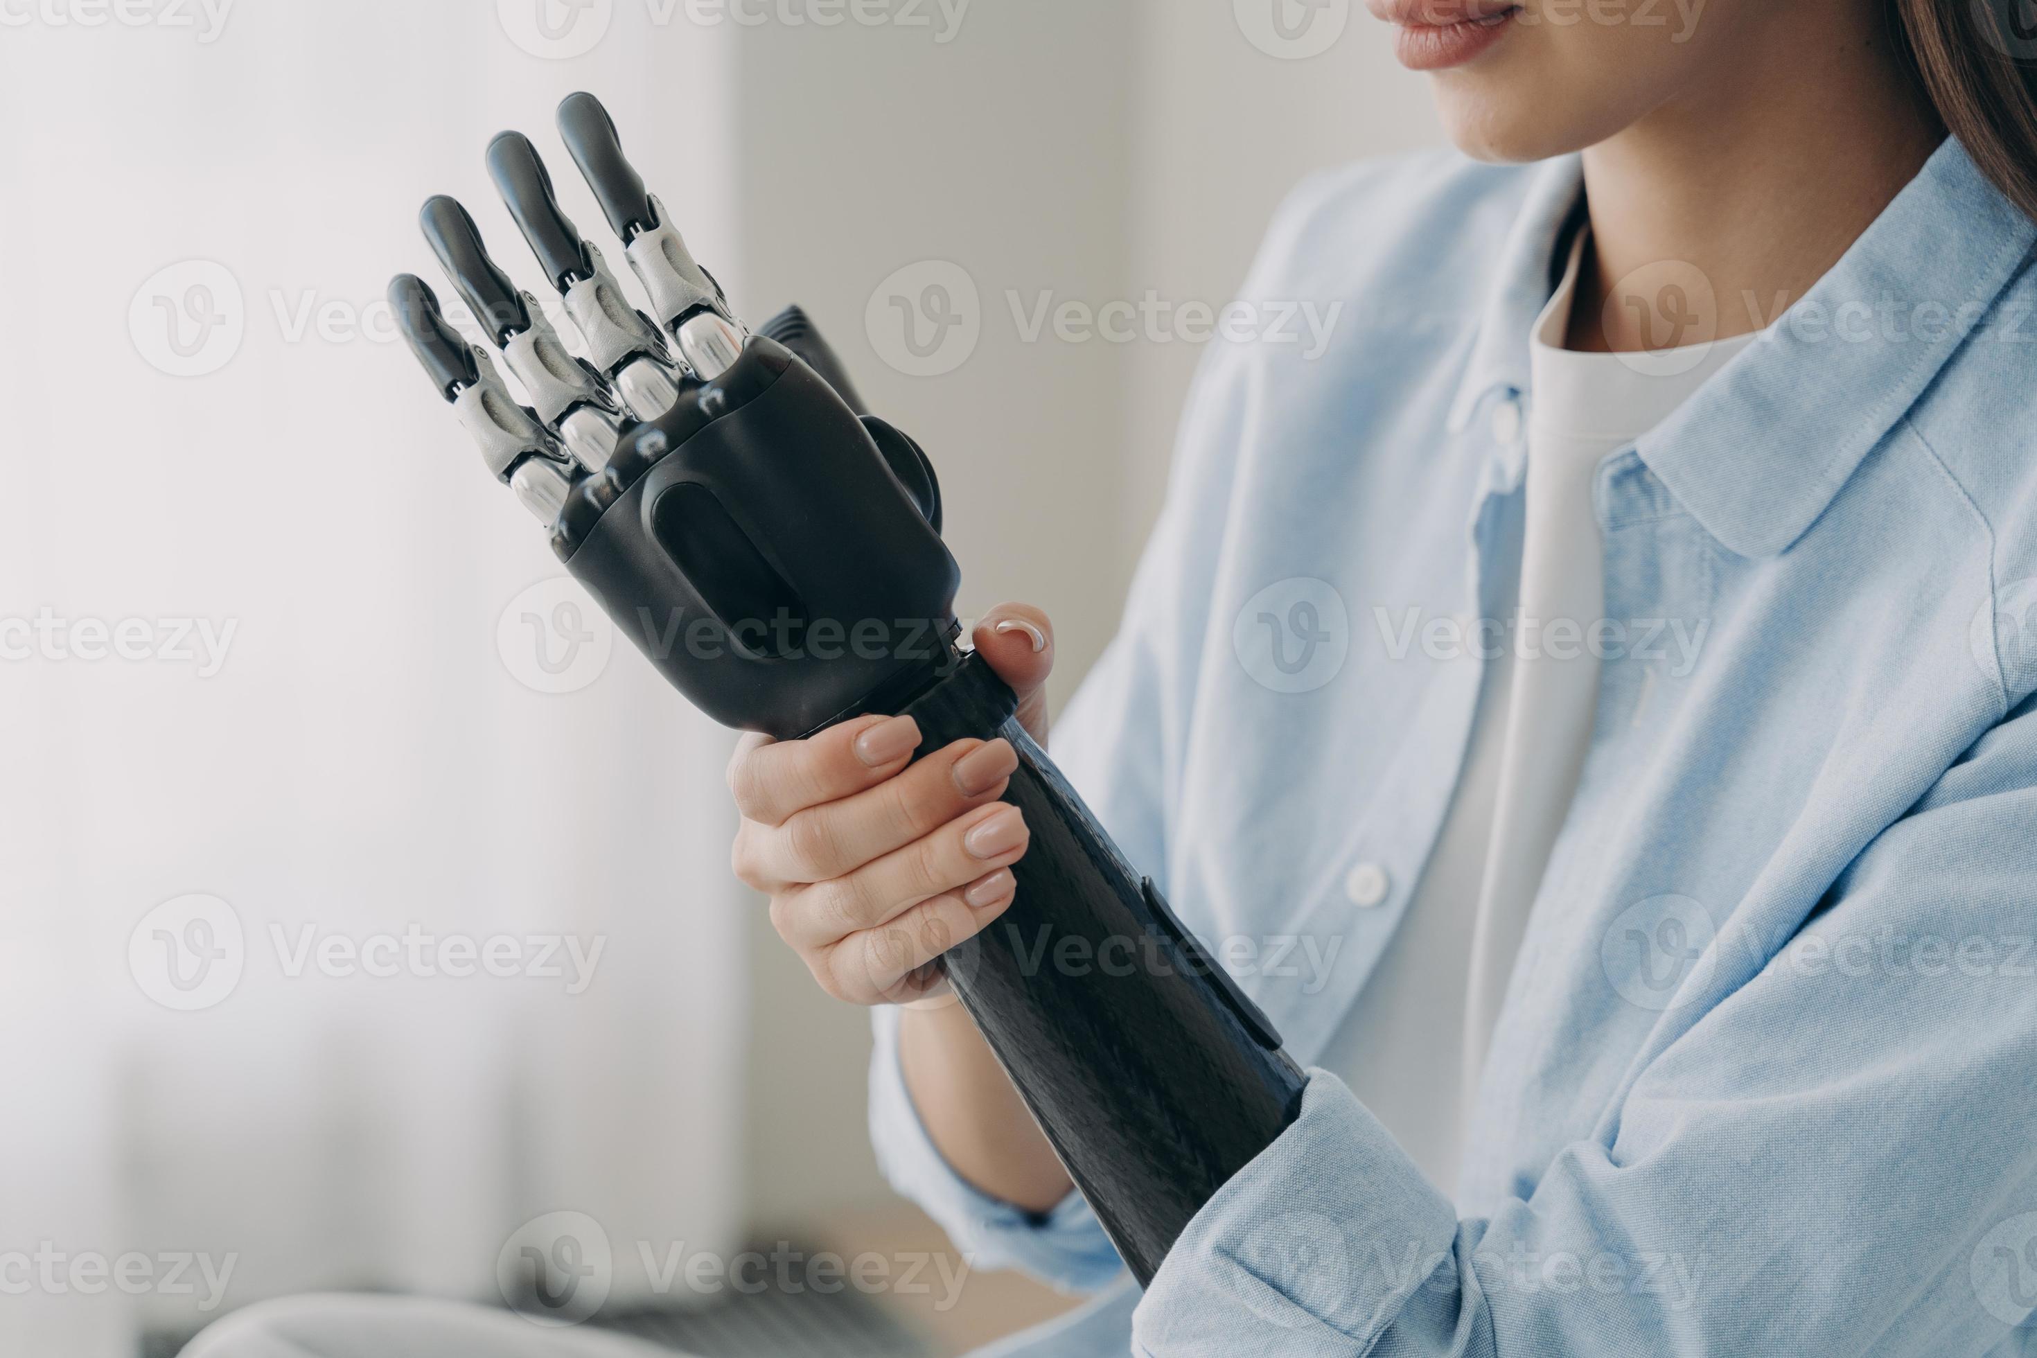
[[[1212,346],[1053,733],[1304,1063],[1450,802],[1579,185],[1424,157],[1293,195],[1245,297],[1342,301],[1330,348]],[[1597,725],[1454,1203],[1312,1071],[1141,1299],[1080,1201],[943,1165],[878,1016],[892,1181],[978,1266],[1116,1281],[1004,1352],[2037,1352],[2033,238],[1947,143],[1599,466]]]

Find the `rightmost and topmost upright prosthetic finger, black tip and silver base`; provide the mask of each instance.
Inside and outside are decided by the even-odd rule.
[[[678,342],[686,364],[703,379],[725,373],[746,336],[721,285],[695,263],[664,204],[629,165],[609,110],[591,94],[568,94],[558,106],[558,136],[621,238],[623,257],[644,283],[652,314]]]

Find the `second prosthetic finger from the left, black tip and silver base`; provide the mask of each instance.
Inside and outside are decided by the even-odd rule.
[[[524,383],[538,417],[574,458],[601,470],[629,423],[607,381],[566,350],[538,299],[519,293],[489,259],[466,208],[440,193],[424,204],[418,220],[460,299],[501,344],[503,362]]]

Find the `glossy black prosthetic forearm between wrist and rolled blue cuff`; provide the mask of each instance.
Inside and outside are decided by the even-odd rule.
[[[955,996],[1145,1287],[1190,1220],[1302,1112],[1279,1032],[1110,843],[972,656],[909,711],[919,753],[1002,735],[1033,841],[1018,896],[943,957]]]

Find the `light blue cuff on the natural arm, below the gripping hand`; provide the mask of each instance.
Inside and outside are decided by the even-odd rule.
[[[998,1201],[953,1171],[913,1108],[898,1065],[898,1010],[872,1010],[870,1142],[884,1179],[921,1205],[976,1268],[1021,1268],[1069,1293],[1094,1293],[1122,1270],[1096,1213],[1069,1193],[1053,1211]]]

